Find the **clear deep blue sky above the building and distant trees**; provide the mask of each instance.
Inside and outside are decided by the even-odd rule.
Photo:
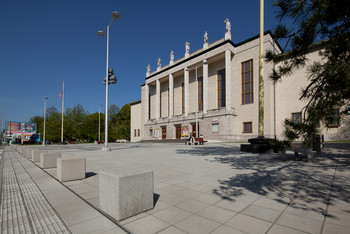
[[[278,23],[273,0],[265,0],[265,31]],[[106,38],[97,35],[118,11],[110,28],[110,67],[118,78],[109,86],[109,103],[122,107],[140,99],[146,66],[155,70],[224,37],[230,19],[232,41],[259,34],[259,0],[121,1],[2,0],[0,3],[0,105],[7,121],[29,121],[47,107],[61,110],[58,94],[65,82],[65,108],[81,104],[90,113],[105,103],[102,81]]]

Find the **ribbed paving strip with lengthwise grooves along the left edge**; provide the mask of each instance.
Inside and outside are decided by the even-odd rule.
[[[71,233],[28,175],[13,149],[3,151],[2,233]]]

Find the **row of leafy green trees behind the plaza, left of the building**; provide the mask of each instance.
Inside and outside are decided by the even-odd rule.
[[[43,117],[33,116],[31,122],[37,123],[37,131],[43,134]],[[109,108],[109,141],[117,139],[130,139],[130,105],[124,105],[120,109],[115,104]],[[62,113],[56,107],[50,107],[46,112],[46,140],[61,141],[61,122]],[[64,140],[65,141],[88,141],[98,140],[98,122],[99,114],[90,114],[82,105],[75,105],[73,108],[67,108],[64,115]],[[100,113],[100,137],[105,137],[105,115]]]

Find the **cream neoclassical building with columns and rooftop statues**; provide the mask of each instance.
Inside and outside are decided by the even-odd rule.
[[[209,44],[204,34],[203,48],[191,53],[185,44],[183,58],[166,66],[157,61],[151,72],[147,66],[141,100],[131,103],[131,141],[181,139],[198,134],[206,140],[245,141],[258,135],[259,37],[240,43],[231,41],[231,26],[225,37]],[[282,53],[270,32],[264,36],[264,50]],[[308,55],[319,59],[318,49]],[[307,84],[306,68],[274,83],[268,76],[273,63],[264,64],[264,135],[279,137],[286,118],[298,121],[305,103],[299,100]],[[339,123],[324,134],[337,133]]]

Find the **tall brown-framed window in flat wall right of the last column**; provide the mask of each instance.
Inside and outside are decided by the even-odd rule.
[[[253,103],[253,59],[242,63],[242,104]]]

